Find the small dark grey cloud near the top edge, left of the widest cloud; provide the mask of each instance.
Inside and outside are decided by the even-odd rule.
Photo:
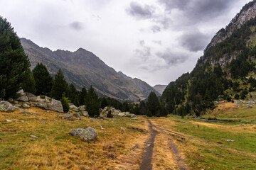
[[[127,8],[127,13],[136,18],[147,19],[152,17],[154,8],[148,5],[142,6],[135,1],[132,1],[129,8]]]

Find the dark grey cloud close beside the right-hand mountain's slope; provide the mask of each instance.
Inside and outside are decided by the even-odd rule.
[[[208,42],[210,42],[210,35],[201,33],[200,30],[195,28],[181,35],[178,38],[178,42],[191,52],[198,52],[204,50]]]

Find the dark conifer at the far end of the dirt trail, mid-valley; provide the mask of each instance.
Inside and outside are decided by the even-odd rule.
[[[148,101],[146,101],[146,107],[149,109],[149,113],[151,113],[151,115],[156,115],[156,113],[160,111],[159,98],[156,96],[154,91],[151,91],[149,94]]]

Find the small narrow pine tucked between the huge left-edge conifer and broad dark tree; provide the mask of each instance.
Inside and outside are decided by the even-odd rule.
[[[25,92],[29,92],[31,94],[36,94],[36,81],[33,78],[33,74],[30,69],[26,72],[28,74],[28,77],[24,79],[23,84],[22,84],[22,89]]]

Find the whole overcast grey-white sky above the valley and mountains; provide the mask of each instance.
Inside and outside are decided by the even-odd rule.
[[[169,84],[191,72],[213,35],[250,0],[0,0],[18,36],[82,47],[117,72]]]

